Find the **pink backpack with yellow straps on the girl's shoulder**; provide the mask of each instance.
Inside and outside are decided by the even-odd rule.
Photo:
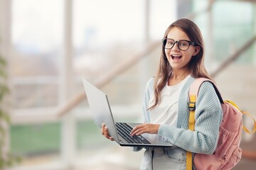
[[[223,101],[220,92],[210,79],[198,78],[191,85],[191,89],[189,90],[190,103],[188,107],[190,114],[188,129],[194,130],[196,97],[204,81],[209,81],[213,84],[223,109],[223,120],[220,123],[218,145],[213,154],[195,154],[193,157],[193,153],[187,152],[186,169],[192,169],[192,159],[196,170],[232,169],[238,164],[242,157],[242,149],[240,148],[242,128],[244,128],[246,132],[249,132],[249,130],[242,125],[242,113],[244,112],[240,111],[238,106],[232,101]],[[250,115],[249,113],[246,114]],[[251,115],[250,117],[252,118]],[[254,133],[255,130],[256,123],[252,133]]]

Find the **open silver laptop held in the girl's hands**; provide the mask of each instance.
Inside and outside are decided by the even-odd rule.
[[[165,137],[156,134],[144,133],[142,135],[129,135],[132,128],[140,123],[117,123],[114,121],[107,94],[97,89],[89,81],[82,78],[85,94],[90,106],[90,111],[95,124],[102,128],[105,123],[110,136],[120,146],[127,147],[172,147],[173,145]]]

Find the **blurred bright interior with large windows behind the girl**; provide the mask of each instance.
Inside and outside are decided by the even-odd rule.
[[[0,0],[0,82],[9,89],[0,106],[11,117],[0,117],[1,152],[21,157],[10,169],[139,169],[142,151],[100,134],[81,77],[108,94],[117,121],[142,122],[146,81],[178,18],[201,28],[223,98],[256,118],[255,16],[255,0]],[[241,147],[255,154],[255,135],[243,134]],[[255,169],[255,160],[235,169]]]

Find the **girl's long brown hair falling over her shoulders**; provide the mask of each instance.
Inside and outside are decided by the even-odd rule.
[[[204,77],[204,78],[212,79],[208,74],[206,67],[204,65],[203,36],[201,34],[201,30],[198,28],[198,26],[196,26],[196,23],[193,23],[193,21],[190,21],[186,18],[179,19],[174,23],[171,23],[171,25],[167,28],[166,32],[164,33],[164,38],[167,38],[169,30],[171,30],[171,28],[174,28],[174,27],[183,30],[183,32],[186,33],[186,35],[188,35],[188,38],[190,38],[192,42],[196,43],[196,46],[201,47],[201,50],[198,52],[198,54],[191,57],[191,60],[188,63],[189,74],[191,74],[191,76],[194,78]],[[167,60],[164,46],[162,46],[159,68],[156,72],[156,76],[154,79],[155,101],[153,106],[151,106],[149,110],[159,105],[161,101],[161,97],[160,97],[161,90],[164,89],[164,86],[166,85],[171,72],[172,72],[172,67]]]

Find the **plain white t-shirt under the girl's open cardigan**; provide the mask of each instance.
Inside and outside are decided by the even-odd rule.
[[[178,98],[181,94],[181,89],[189,77],[191,76],[188,75],[188,77],[174,86],[168,86],[168,84],[164,86],[164,89],[161,91],[161,103],[150,111],[151,123],[176,125],[178,118]],[[154,98],[154,93],[152,93],[149,99],[149,106],[153,105]]]

